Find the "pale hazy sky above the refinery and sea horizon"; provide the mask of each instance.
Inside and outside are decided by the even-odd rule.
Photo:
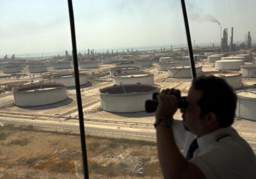
[[[186,0],[192,41],[219,43],[220,25],[234,41],[256,39],[255,0]],[[1,0],[0,58],[71,50],[67,0]],[[78,50],[186,45],[179,0],[73,0]],[[228,41],[228,43],[230,43]]]

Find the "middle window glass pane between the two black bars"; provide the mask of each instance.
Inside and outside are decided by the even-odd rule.
[[[185,95],[191,83],[168,77],[168,67],[189,65],[180,2],[73,3],[79,72],[88,74],[81,96],[85,128],[92,130],[86,131],[90,177],[161,178],[155,117],[144,103],[160,88]]]

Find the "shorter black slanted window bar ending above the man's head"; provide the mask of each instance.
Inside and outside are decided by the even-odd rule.
[[[189,58],[190,58],[192,78],[194,79],[194,78],[196,78],[196,68],[195,68],[195,63],[194,63],[194,56],[193,56],[193,49],[192,49],[190,32],[189,32],[189,21],[187,19],[185,0],[181,0],[181,6],[182,6],[183,18],[184,18],[186,34],[187,34],[187,43],[188,43],[188,47],[189,47]]]

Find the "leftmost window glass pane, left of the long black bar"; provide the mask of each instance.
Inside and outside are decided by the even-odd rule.
[[[67,1],[0,6],[0,177],[81,178],[73,80],[52,83],[73,71]]]

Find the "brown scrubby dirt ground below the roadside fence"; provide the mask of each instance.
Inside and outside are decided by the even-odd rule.
[[[80,136],[38,131],[31,127],[0,127],[0,178],[80,179]],[[86,139],[90,178],[162,178],[153,142]]]

